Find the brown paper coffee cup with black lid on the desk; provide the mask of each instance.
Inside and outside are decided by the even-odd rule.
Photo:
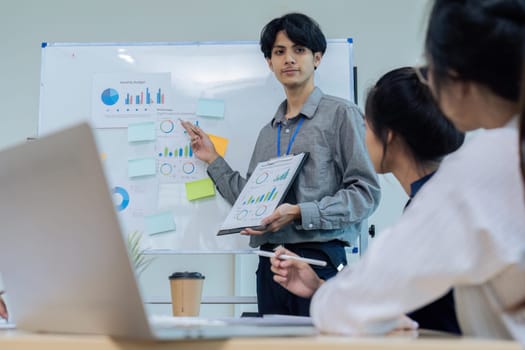
[[[199,272],[174,272],[169,280],[173,316],[199,316],[204,276]]]

